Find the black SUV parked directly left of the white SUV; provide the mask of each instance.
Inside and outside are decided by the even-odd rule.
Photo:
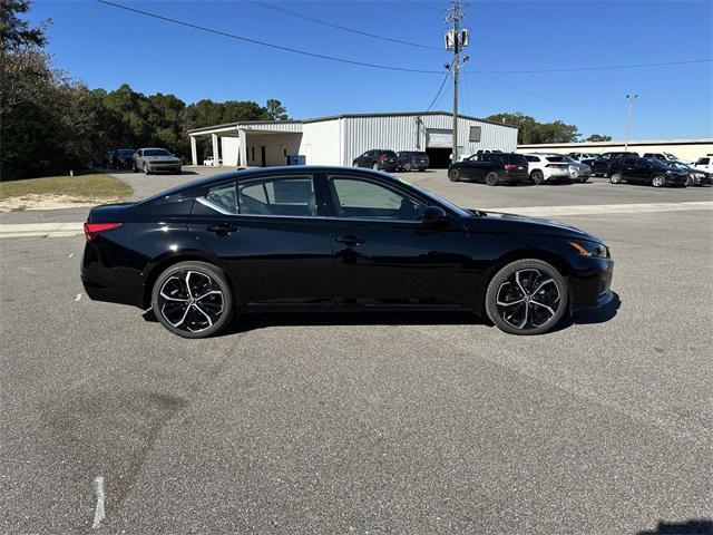
[[[527,159],[521,154],[491,153],[473,154],[448,167],[450,182],[484,182],[489,186],[530,182]]]

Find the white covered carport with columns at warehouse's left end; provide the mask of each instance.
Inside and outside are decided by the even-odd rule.
[[[300,121],[244,121],[188,130],[193,165],[199,165],[197,140],[211,137],[212,156],[228,167],[285,165],[299,154]]]

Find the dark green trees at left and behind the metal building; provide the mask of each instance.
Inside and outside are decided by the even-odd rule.
[[[106,91],[90,89],[51,65],[45,51],[47,27],[21,18],[29,0],[0,1],[0,179],[66,174],[116,148],[160,146],[189,158],[192,128],[243,120],[285,120],[277,99],[186,105],[175,95],[144,95],[127,84]],[[579,140],[577,127],[561,120],[538,123],[521,113],[489,120],[519,127],[518,143]],[[592,136],[587,140],[608,140]],[[199,147],[209,154],[207,144]]]

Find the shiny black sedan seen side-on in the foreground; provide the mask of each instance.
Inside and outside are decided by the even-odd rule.
[[[538,334],[611,299],[597,237],[466,211],[381,172],[272,167],[185,184],[85,224],[87,294],[203,338],[237,312],[467,310]]]

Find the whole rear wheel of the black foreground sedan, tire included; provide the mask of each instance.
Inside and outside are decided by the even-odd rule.
[[[202,295],[194,295],[194,290]],[[183,338],[217,333],[229,323],[235,310],[223,270],[194,261],[174,264],[156,279],[152,308],[162,325]]]

